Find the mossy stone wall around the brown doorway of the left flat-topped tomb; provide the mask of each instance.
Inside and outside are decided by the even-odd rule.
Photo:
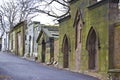
[[[11,43],[10,46],[13,45],[13,49],[10,49],[12,52],[14,52],[16,55],[23,56],[24,55],[24,29],[25,29],[25,22],[21,22],[18,25],[14,27],[13,30],[10,32],[10,43],[13,41],[13,44]],[[20,48],[19,48],[19,53],[18,53],[18,35],[20,34]]]

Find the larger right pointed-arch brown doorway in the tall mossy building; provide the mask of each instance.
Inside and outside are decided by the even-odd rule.
[[[88,34],[86,46],[88,50],[88,68],[94,70],[97,66],[97,36],[93,28],[90,29]]]

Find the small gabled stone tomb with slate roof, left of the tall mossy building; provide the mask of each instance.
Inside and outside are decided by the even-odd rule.
[[[38,61],[54,65],[58,61],[59,53],[58,26],[42,26],[37,38]]]

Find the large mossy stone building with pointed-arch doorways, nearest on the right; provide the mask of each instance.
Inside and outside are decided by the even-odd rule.
[[[96,0],[91,4],[89,0],[79,0],[75,2],[73,0],[70,8],[70,16],[60,20],[59,67],[64,68],[64,50],[67,49],[69,57],[68,68],[70,70],[78,71],[79,69],[80,72],[87,72],[87,74],[92,73],[93,76],[95,76],[94,74],[98,74],[100,78],[106,80],[106,73],[109,69],[115,68],[115,66],[119,68],[119,65],[115,65],[116,62],[114,62],[114,60],[119,60],[119,53],[116,53],[119,52],[118,49],[120,48],[118,45],[119,37],[117,36],[119,34],[119,28],[115,28],[114,30],[113,25],[118,22],[118,1],[101,0],[97,2]],[[75,16],[78,9],[81,11],[84,23],[81,33],[82,45],[81,50],[78,50],[79,52],[76,51],[75,44],[76,31],[79,32],[79,30],[76,30],[74,27],[74,23],[77,23],[75,22],[77,21],[75,20],[77,19]],[[68,48],[66,49],[63,49],[65,48],[64,38],[68,39],[68,44],[66,44]],[[80,57],[78,58],[80,59],[79,62],[76,61],[76,56]],[[78,66],[78,64],[80,66]]]

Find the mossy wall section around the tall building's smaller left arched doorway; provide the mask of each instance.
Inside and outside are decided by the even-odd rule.
[[[72,3],[70,5],[70,18],[65,20],[64,22],[60,23],[60,36],[59,36],[59,67],[63,68],[63,52],[62,52],[62,45],[63,39],[66,35],[68,38],[69,43],[69,69],[75,70],[75,29],[73,27],[75,15],[77,9],[79,7],[80,1],[76,1],[76,3]]]

